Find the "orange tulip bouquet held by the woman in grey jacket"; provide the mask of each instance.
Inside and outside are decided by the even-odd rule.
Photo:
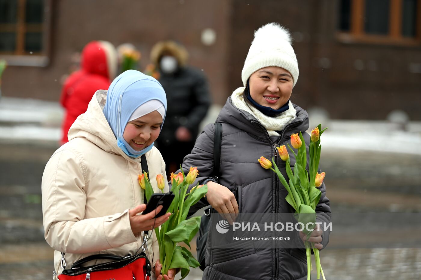
[[[258,160],[263,168],[271,169],[277,174],[282,185],[284,185],[285,189],[288,191],[288,195],[285,197],[285,200],[296,211],[295,217],[297,221],[305,225],[303,232],[307,235],[307,239],[310,237],[312,230],[314,229],[314,223],[316,221],[315,210],[321,196],[321,192],[317,188],[322,185],[323,179],[325,178],[325,172],[320,174],[317,173],[319,170],[320,151],[322,147],[320,145],[320,136],[326,128],[322,131],[320,130],[321,125],[318,125],[311,133],[311,143],[309,146],[309,172],[306,170],[306,145],[301,132],[299,135],[298,133],[291,134],[291,145],[297,150],[297,152],[295,152],[288,144],[288,148],[296,158],[294,170],[291,169],[290,158],[285,145],[277,147],[280,158],[285,161],[285,169],[289,179],[288,181],[279,171],[273,158],[272,163],[274,168],[272,168],[272,163],[265,157],[261,157]],[[307,230],[307,228],[311,229],[311,231]],[[314,244],[308,241],[305,242],[305,246],[307,255],[307,279],[310,279],[310,271],[312,270],[310,257],[311,250],[313,250],[317,267],[317,279],[320,279],[321,273],[323,279],[325,280],[325,275],[323,274],[323,269],[320,264],[319,250],[314,248]]]

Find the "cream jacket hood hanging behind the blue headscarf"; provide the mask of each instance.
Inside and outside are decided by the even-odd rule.
[[[106,100],[107,91],[96,91],[86,112],[77,117],[70,127],[69,141],[77,137],[83,137],[106,152],[122,155],[128,160],[133,160],[117,146],[117,139],[102,112]]]

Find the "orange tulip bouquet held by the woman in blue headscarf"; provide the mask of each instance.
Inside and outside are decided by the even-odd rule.
[[[189,274],[189,267],[200,266],[200,263],[187,248],[177,245],[179,242],[184,242],[191,248],[189,242],[192,241],[199,230],[201,217],[192,217],[186,220],[190,206],[197,203],[208,192],[206,185],[198,186],[198,184],[192,187],[190,192],[187,192],[189,185],[195,181],[198,174],[197,167],[191,167],[187,176],[184,176],[183,171],[178,174],[171,173],[171,191],[175,197],[168,208],[168,212],[173,214],[168,221],[161,225],[160,229],[155,229],[160,262],[163,267],[161,273],[168,274],[169,269],[181,268],[181,279]],[[163,176],[158,174],[156,179],[158,187],[162,191],[164,189]],[[146,172],[139,175],[139,184],[145,190],[147,200],[149,200],[154,191]]]

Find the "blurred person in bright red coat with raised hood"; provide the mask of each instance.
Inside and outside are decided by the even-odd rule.
[[[82,51],[81,68],[64,82],[60,103],[66,110],[61,125],[60,144],[67,141],[67,133],[76,118],[88,108],[93,94],[107,90],[117,72],[117,52],[107,41],[92,41]]]

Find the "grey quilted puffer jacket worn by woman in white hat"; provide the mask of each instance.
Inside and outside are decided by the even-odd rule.
[[[275,147],[290,143],[290,135],[301,131],[306,143],[310,136],[305,133],[309,128],[307,112],[294,105],[296,118],[288,124],[280,136],[269,136],[266,129],[248,112],[238,109],[228,98],[217,122],[222,123],[221,174],[219,184],[228,187],[236,194],[240,213],[293,213],[293,208],[285,201],[288,194],[276,174],[261,168],[257,159],[261,156],[276,156]],[[182,167],[188,170],[197,166],[200,183],[210,179],[213,174],[213,142],[215,125],[209,124],[197,138],[191,154],[184,158]],[[307,147],[308,155],[308,147]],[[290,155],[291,167],[295,164]],[[275,157],[285,178],[285,162]],[[308,168],[308,166],[307,166]],[[194,184],[195,185],[195,184]],[[326,187],[320,188],[322,195],[317,205],[317,220],[330,221],[329,200],[325,196]],[[191,210],[206,206],[205,200],[193,205]],[[211,231],[209,232],[209,235]],[[322,245],[328,243],[328,232],[323,233]],[[208,236],[206,269],[203,279],[207,280],[295,280],[305,279],[307,275],[306,254],[304,249],[220,249],[210,248]]]

